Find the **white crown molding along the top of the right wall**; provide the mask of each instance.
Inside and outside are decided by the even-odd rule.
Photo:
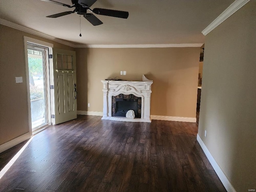
[[[222,12],[222,14],[220,14],[210,25],[208,25],[202,31],[202,34],[207,35],[249,1],[250,0],[235,0],[228,8],[226,8],[226,10],[224,10],[224,12]]]

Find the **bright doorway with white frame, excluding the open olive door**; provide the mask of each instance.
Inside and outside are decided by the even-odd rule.
[[[51,124],[50,66],[53,44],[24,36],[30,135]]]

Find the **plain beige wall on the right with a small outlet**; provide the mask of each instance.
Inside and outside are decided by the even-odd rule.
[[[256,189],[255,10],[251,0],[205,41],[198,134],[237,192]]]

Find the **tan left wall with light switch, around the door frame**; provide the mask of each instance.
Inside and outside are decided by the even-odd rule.
[[[0,144],[29,132],[23,36],[52,43],[54,48],[74,50],[0,25]],[[23,83],[16,84],[15,77],[22,77]]]

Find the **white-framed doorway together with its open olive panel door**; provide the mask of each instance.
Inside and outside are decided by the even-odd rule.
[[[24,50],[30,134],[75,119],[76,53],[26,36]]]

